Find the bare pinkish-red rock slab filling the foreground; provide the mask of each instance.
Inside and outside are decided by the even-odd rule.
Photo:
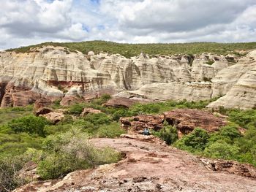
[[[248,164],[195,157],[139,134],[91,142],[115,148],[123,160],[15,191],[256,191],[256,169]]]

